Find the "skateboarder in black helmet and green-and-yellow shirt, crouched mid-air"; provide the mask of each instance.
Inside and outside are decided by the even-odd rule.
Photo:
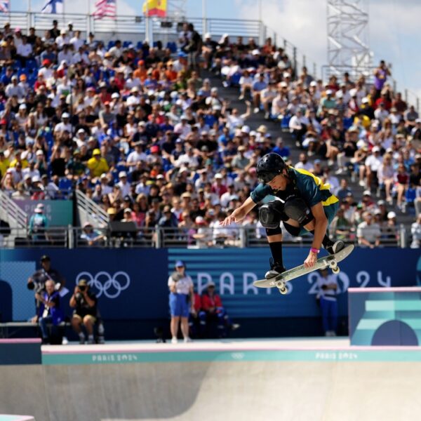
[[[281,156],[274,153],[263,156],[256,169],[260,184],[239,208],[225,218],[222,225],[239,222],[265,197],[270,199],[274,196],[274,200],[259,209],[259,220],[266,229],[272,252],[266,279],[286,271],[282,260],[281,221],[293,236],[306,232],[314,235],[309,255],[304,261],[307,268],[315,265],[322,245],[330,254],[338,253],[345,247],[343,241],[330,241],[326,234],[339,206],[339,199],[330,193],[328,184],[323,184],[319,177],[308,171],[287,166]]]

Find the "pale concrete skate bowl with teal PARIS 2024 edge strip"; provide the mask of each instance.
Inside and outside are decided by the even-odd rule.
[[[348,339],[42,347],[0,366],[1,413],[36,421],[419,420],[420,347]]]

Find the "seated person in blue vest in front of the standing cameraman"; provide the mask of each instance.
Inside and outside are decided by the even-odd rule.
[[[55,283],[48,279],[45,283],[45,290],[35,293],[35,298],[40,302],[39,311],[32,321],[39,323],[42,334],[42,343],[53,342],[53,338],[58,338],[57,326],[64,319],[62,309],[60,308],[60,293],[55,290]],[[48,332],[48,325],[52,324],[51,335]],[[61,343],[61,340],[60,342]]]

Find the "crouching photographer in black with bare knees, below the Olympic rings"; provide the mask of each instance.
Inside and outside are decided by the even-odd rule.
[[[88,333],[88,344],[95,343],[93,339],[93,327],[95,326],[97,312],[97,302],[95,294],[89,290],[86,279],[81,279],[74,287],[74,293],[70,298],[70,307],[74,308],[72,316],[72,328],[79,335],[79,343],[85,343],[85,334],[82,324]]]

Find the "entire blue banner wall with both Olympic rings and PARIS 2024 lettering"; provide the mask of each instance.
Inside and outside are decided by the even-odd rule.
[[[319,317],[316,305],[317,272],[288,283],[288,295],[276,288],[260,289],[253,281],[269,267],[268,248],[221,249],[15,249],[0,251],[0,312],[4,319],[27,320],[34,315],[34,291],[27,279],[40,268],[41,255],[67,280],[68,307],[78,279],[91,283],[99,297],[102,316],[109,320],[168,318],[168,275],[176,260],[184,260],[196,290],[208,281],[216,284],[233,318]],[[284,263],[302,264],[306,248],[284,248]],[[421,282],[420,250],[356,248],[340,263],[338,274],[340,315],[347,315],[347,288],[414,286]],[[69,310],[69,309],[68,309]],[[10,317],[7,314],[10,313]]]

